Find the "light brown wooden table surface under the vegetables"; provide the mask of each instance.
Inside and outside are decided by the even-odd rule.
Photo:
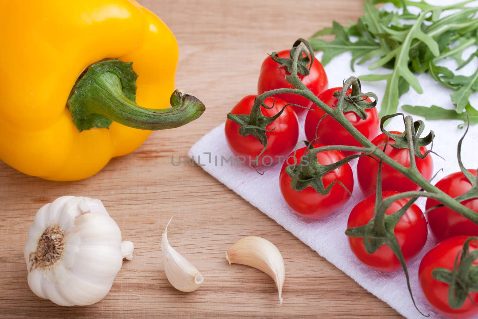
[[[197,121],[155,132],[136,152],[113,159],[96,176],[58,183],[23,175],[0,163],[0,317],[365,317],[398,313],[361,288],[291,233],[200,167],[174,167],[193,143],[219,125],[244,95],[256,93],[262,60],[333,20],[356,21],[360,0],[141,0],[166,22],[180,47],[178,88],[206,105]],[[346,8],[346,10],[342,10]],[[109,294],[88,307],[63,308],[36,297],[23,258],[35,212],[62,195],[100,198],[134,242]],[[202,272],[194,293],[170,286],[160,238],[171,216],[169,241]],[[279,307],[272,279],[229,265],[224,252],[247,235],[270,239],[286,268]]]

